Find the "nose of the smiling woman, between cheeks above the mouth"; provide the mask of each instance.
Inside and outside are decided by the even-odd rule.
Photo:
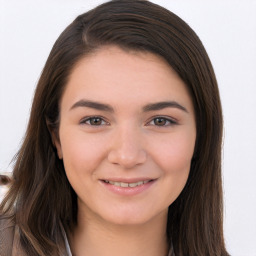
[[[115,135],[108,154],[110,163],[131,169],[146,161],[147,154],[142,146],[139,131],[126,127]]]

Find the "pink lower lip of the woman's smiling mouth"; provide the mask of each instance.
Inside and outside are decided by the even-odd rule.
[[[121,196],[135,196],[138,195],[144,191],[147,191],[153,184],[155,184],[156,180],[149,181],[145,184],[139,185],[137,187],[131,188],[131,187],[119,187],[112,185],[110,183],[106,183],[104,181],[100,181],[101,184],[108,189],[109,191],[121,195]]]

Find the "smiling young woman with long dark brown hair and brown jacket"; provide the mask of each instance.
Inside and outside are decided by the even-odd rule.
[[[110,1],[56,41],[1,204],[1,255],[228,255],[222,112],[193,30]]]

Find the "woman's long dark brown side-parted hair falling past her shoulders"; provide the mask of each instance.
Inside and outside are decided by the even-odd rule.
[[[78,16],[60,35],[43,69],[13,181],[1,215],[14,219],[30,256],[65,255],[77,198],[49,131],[58,134],[59,101],[74,65],[104,45],[162,56],[187,85],[197,141],[187,184],[170,205],[167,237],[175,255],[228,255],[222,219],[222,110],[211,62],[195,32],[172,12],[143,0],[116,0]]]

